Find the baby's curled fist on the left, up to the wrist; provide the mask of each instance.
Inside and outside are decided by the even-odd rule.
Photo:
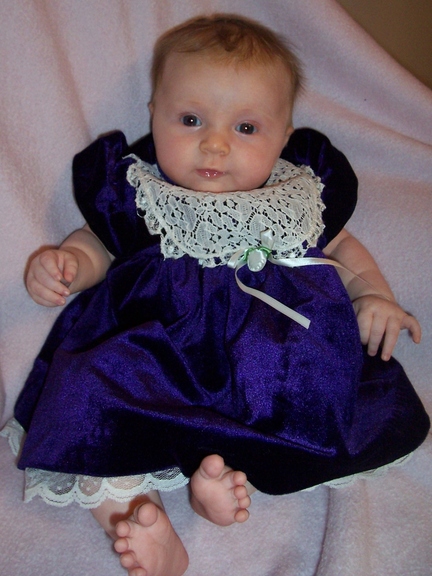
[[[70,296],[69,286],[78,272],[78,259],[67,250],[45,250],[30,262],[26,286],[30,296],[42,306],[63,306]]]

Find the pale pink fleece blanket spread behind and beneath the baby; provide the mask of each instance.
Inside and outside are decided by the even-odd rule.
[[[7,6],[6,6],[7,4]],[[0,6],[0,417],[13,404],[58,311],[34,304],[28,256],[82,224],[73,155],[99,134],[148,132],[156,37],[202,12],[230,11],[285,34],[305,63],[295,125],[327,134],[360,180],[349,229],[374,253],[401,304],[421,321],[396,357],[432,412],[432,92],[395,63],[334,0],[14,0]],[[78,507],[21,501],[22,473],[0,438],[3,576],[121,575],[108,538]],[[187,491],[165,498],[190,553],[188,576],[432,574],[432,442],[404,466],[342,489],[254,496],[244,525],[194,515]]]

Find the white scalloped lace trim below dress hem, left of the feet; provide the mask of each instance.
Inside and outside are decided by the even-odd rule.
[[[25,435],[20,424],[15,419],[10,420],[0,435],[9,440],[11,450],[17,456]],[[183,476],[179,468],[112,478],[27,468],[24,501],[29,502],[35,496],[40,496],[53,506],[68,506],[77,502],[82,508],[96,508],[107,499],[129,502],[151,490],[171,492],[188,482],[189,478]]]

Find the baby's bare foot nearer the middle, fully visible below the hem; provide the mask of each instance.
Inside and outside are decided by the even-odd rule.
[[[229,526],[249,518],[249,495],[254,488],[247,482],[246,474],[225,466],[221,456],[204,458],[190,486],[192,508],[214,524]]]

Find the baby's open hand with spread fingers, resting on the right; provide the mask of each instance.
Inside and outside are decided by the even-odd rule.
[[[421,340],[421,327],[396,303],[380,296],[369,294],[353,302],[360,328],[362,344],[367,344],[368,354],[375,356],[382,344],[381,358],[389,360],[401,330],[407,329],[413,341]]]

